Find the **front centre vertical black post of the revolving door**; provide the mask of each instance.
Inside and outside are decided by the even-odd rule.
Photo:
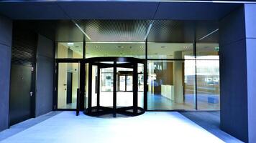
[[[116,61],[114,61],[113,72],[113,117],[116,117]]]

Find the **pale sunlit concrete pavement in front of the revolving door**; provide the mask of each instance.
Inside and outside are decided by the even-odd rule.
[[[116,119],[88,117],[83,113],[76,117],[75,112],[61,112],[1,140],[1,143],[9,142],[216,143],[223,140],[178,112],[146,112],[138,117]]]

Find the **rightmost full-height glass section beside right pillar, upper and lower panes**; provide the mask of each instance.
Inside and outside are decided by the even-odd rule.
[[[219,44],[196,44],[198,109],[219,109]]]

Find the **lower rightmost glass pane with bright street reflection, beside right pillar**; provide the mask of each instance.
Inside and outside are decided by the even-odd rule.
[[[198,109],[219,109],[219,56],[197,57],[196,79]]]

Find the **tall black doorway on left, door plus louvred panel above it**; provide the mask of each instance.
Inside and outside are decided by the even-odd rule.
[[[35,117],[37,34],[13,23],[9,125]]]

